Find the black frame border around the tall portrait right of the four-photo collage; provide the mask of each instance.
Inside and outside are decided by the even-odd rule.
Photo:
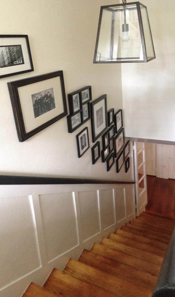
[[[105,121],[106,127],[95,137],[95,123],[94,123],[94,105],[101,100],[105,100]],[[91,102],[91,129],[92,129],[92,142],[95,142],[107,130],[107,95],[103,95]]]

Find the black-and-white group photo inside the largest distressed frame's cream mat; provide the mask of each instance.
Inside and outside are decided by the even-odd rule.
[[[32,95],[34,116],[39,117],[55,108],[53,88]]]

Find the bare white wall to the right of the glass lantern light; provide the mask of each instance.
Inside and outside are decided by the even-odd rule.
[[[122,65],[128,137],[175,141],[175,2],[144,0],[156,59]]]

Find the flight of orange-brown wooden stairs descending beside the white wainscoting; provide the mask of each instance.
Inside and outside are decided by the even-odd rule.
[[[142,212],[23,297],[150,297],[175,221]]]

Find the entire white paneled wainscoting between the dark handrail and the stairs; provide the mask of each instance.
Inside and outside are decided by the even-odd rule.
[[[43,286],[54,267],[135,217],[133,184],[0,186],[0,297]]]

